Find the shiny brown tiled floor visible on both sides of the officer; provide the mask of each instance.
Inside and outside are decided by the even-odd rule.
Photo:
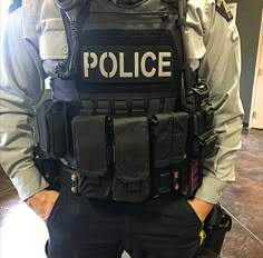
[[[236,182],[222,205],[233,217],[223,258],[263,257],[263,131],[245,130],[237,159]],[[45,224],[21,202],[0,171],[0,258],[45,258]],[[183,258],[183,257],[182,257]]]

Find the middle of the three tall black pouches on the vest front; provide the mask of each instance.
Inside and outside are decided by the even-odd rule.
[[[149,196],[149,138],[146,117],[114,119],[113,199],[142,202]]]

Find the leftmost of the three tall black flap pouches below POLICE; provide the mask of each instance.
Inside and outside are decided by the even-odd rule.
[[[105,116],[77,116],[72,120],[78,194],[105,199],[111,178],[107,167]]]

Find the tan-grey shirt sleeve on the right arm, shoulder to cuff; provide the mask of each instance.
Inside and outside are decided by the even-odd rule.
[[[234,21],[217,12],[215,4],[215,0],[189,0],[186,30],[191,63],[207,80],[218,133],[215,155],[205,160],[203,185],[195,195],[211,204],[218,201],[226,182],[235,180],[243,120],[240,37]]]

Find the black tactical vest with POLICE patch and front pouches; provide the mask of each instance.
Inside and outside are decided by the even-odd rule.
[[[56,67],[53,92],[72,86],[78,97],[55,93],[39,109],[41,148],[87,197],[193,196],[216,137],[207,86],[186,75],[177,0],[57,3],[69,57]]]

